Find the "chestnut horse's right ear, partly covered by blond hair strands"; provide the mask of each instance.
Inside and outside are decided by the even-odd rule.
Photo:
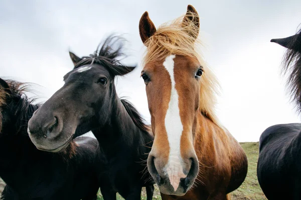
[[[198,37],[200,31],[200,17],[194,6],[187,6],[187,12],[183,18],[182,27],[190,36],[195,39]]]

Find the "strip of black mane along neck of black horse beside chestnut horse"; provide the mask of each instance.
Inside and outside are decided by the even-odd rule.
[[[138,110],[134,107],[134,105],[128,100],[120,98],[124,108],[129,114],[130,118],[133,120],[136,126],[138,126],[142,131],[149,132],[150,126],[146,125],[144,119],[141,117]]]

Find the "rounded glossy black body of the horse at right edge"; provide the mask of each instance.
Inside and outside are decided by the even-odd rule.
[[[301,123],[277,124],[260,136],[257,177],[267,198],[293,199],[301,189],[300,130]]]

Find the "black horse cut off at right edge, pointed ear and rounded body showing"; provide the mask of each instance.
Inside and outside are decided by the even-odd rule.
[[[284,73],[298,111],[301,110],[301,30],[272,39],[287,48]],[[260,136],[257,177],[268,199],[301,199],[301,123],[277,124]]]

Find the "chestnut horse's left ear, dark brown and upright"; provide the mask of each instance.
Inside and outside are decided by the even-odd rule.
[[[142,42],[145,44],[145,41],[153,36],[157,31],[155,24],[150,20],[148,12],[145,11],[139,21],[139,33]]]

